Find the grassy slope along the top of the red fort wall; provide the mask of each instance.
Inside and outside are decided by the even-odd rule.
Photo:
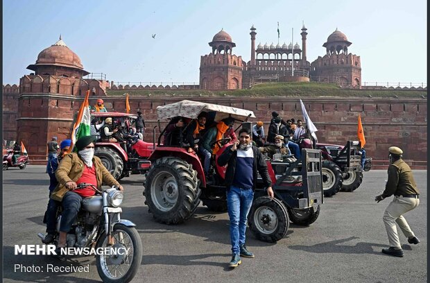
[[[422,90],[400,90],[400,89],[381,89],[381,90],[364,90],[364,89],[342,89],[338,85],[327,83],[263,83],[255,85],[252,89],[220,90],[210,91],[204,89],[119,89],[107,90],[108,96],[119,96],[124,93],[130,96],[283,96],[283,97],[318,97],[318,96],[337,96],[337,97],[376,97],[398,96],[399,98],[413,97],[427,98],[427,89]]]

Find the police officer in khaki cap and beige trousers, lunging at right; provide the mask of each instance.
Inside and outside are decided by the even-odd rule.
[[[420,191],[413,178],[411,168],[402,160],[402,149],[397,146],[388,148],[390,153],[390,166],[388,166],[388,181],[385,191],[375,197],[378,203],[388,196],[394,195],[393,201],[388,205],[384,212],[384,225],[388,234],[390,248],[382,249],[382,252],[395,257],[403,257],[402,246],[400,246],[399,236],[397,234],[396,223],[399,225],[408,243],[417,244],[420,240],[415,237],[409,227],[403,214],[418,207],[420,204]]]

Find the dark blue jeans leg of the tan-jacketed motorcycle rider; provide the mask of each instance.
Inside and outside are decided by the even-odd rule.
[[[60,232],[69,232],[80,209],[83,197],[73,191],[67,191],[62,198]]]

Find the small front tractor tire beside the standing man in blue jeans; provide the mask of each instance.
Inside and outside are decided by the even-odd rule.
[[[275,243],[285,237],[289,225],[286,207],[277,198],[261,196],[252,203],[248,226],[257,239]]]

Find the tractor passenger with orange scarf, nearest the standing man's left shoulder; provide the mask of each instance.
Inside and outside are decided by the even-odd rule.
[[[203,162],[203,171],[205,171],[206,176],[209,175],[212,155],[216,155],[220,148],[220,146],[218,144],[214,144],[214,142],[223,139],[225,132],[230,128],[230,125],[233,126],[233,123],[233,118],[225,118],[216,123],[215,127],[209,128],[205,135],[203,135],[202,139],[200,139],[200,147],[198,148],[198,151],[203,155],[203,157],[205,157]]]

